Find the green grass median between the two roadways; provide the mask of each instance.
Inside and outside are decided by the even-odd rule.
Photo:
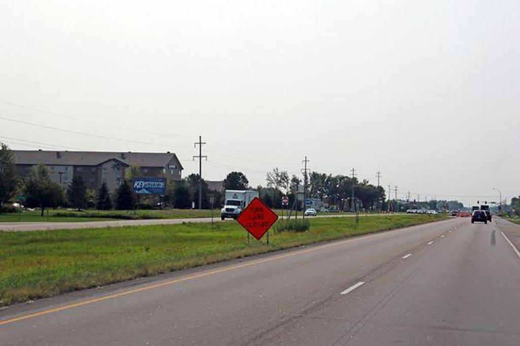
[[[366,216],[359,227],[354,218],[314,218],[306,232],[271,230],[270,244],[248,244],[235,222],[0,232],[0,305],[444,218]]]

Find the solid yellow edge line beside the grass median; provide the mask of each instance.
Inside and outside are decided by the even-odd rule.
[[[112,295],[108,295],[108,296],[104,296],[104,297],[88,299],[88,300],[80,301],[80,302],[73,303],[73,304],[70,304],[70,305],[62,306],[62,307],[59,307],[59,308],[43,310],[43,311],[40,311],[40,312],[35,312],[35,313],[32,313],[32,314],[15,317],[13,319],[0,321],[0,326],[6,325],[6,324],[10,324],[10,323],[14,323],[14,322],[27,320],[27,319],[31,319],[32,317],[48,315],[48,314],[59,312],[59,311],[63,311],[63,310],[69,310],[69,309],[72,309],[72,308],[81,307],[81,306],[84,306],[84,305],[96,303],[96,302],[103,301],[103,300],[108,300],[108,299],[112,299],[112,298],[118,298],[118,297],[122,297],[122,296],[127,296],[127,295],[130,295],[130,294],[143,292],[143,291],[146,291],[146,290],[149,290],[149,289],[154,289],[154,288],[159,288],[159,287],[163,287],[163,286],[173,285],[173,284],[176,284],[176,283],[185,282],[185,281],[189,281],[189,280],[193,280],[193,279],[199,279],[199,278],[203,278],[204,276],[209,276],[209,275],[214,275],[214,274],[218,274],[218,273],[223,273],[223,272],[226,272],[226,271],[229,271],[229,270],[235,270],[235,269],[240,269],[240,268],[244,268],[244,267],[250,267],[250,266],[254,266],[254,265],[257,265],[257,264],[262,264],[262,263],[265,263],[265,262],[270,262],[270,261],[274,261],[274,260],[278,260],[278,259],[282,259],[282,258],[287,258],[287,257],[291,257],[291,256],[296,256],[296,255],[301,255],[301,254],[313,252],[313,251],[318,251],[318,250],[321,250],[322,248],[327,248],[327,247],[332,247],[332,246],[339,246],[339,245],[343,245],[343,244],[348,243],[348,242],[361,240],[361,239],[372,238],[372,237],[380,236],[382,234],[384,234],[384,233],[367,234],[366,236],[363,236],[361,238],[347,239],[347,240],[343,240],[343,241],[340,241],[340,242],[334,242],[334,243],[330,243],[330,244],[314,246],[314,247],[311,247],[311,248],[306,248],[304,250],[298,250],[298,251],[290,252],[288,254],[272,256],[272,257],[268,257],[268,258],[264,258],[264,259],[258,259],[258,260],[255,260],[255,261],[250,261],[250,262],[246,262],[246,263],[242,263],[242,264],[238,264],[238,265],[231,265],[231,266],[220,268],[220,269],[214,269],[214,270],[206,271],[206,272],[199,273],[199,274],[188,275],[188,276],[185,276],[184,278],[178,278],[178,279],[166,281],[166,282],[159,283],[159,284],[153,284],[153,285],[149,285],[149,286],[145,286],[145,287],[141,287],[141,288],[129,289],[129,290],[126,290],[124,292],[120,292],[120,293],[116,293],[116,294],[112,294]]]

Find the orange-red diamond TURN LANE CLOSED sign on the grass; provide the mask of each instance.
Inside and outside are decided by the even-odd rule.
[[[238,223],[257,240],[262,239],[276,220],[278,215],[258,197],[255,197],[237,218]]]

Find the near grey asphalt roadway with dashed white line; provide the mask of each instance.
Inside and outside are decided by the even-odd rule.
[[[0,343],[520,344],[520,258],[499,226],[451,219],[15,306]]]

